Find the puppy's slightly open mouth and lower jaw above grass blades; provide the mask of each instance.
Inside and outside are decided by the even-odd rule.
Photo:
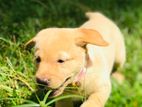
[[[58,88],[52,89],[49,97],[56,97],[63,93],[64,88],[71,82],[71,77],[68,77]]]

